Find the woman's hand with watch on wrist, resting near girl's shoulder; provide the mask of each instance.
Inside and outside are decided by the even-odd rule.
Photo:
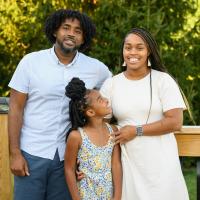
[[[124,126],[120,128],[119,131],[114,132],[115,134],[115,144],[124,144],[136,136],[135,126]]]

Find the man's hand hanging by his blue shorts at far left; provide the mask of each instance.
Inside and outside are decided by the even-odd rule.
[[[29,176],[28,164],[21,153],[10,156],[10,169],[15,176]]]

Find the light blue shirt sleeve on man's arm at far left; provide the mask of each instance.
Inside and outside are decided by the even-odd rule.
[[[8,86],[27,94],[29,91],[29,70],[28,59],[25,56],[18,64]]]

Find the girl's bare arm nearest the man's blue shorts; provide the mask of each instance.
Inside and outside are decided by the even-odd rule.
[[[81,145],[81,137],[78,131],[72,131],[67,139],[65,150],[65,178],[73,200],[80,200],[76,184],[76,160]]]

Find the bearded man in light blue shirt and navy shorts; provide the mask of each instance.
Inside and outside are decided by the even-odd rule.
[[[95,34],[85,14],[58,10],[48,17],[45,33],[53,47],[26,55],[9,83],[15,200],[71,199],[63,168],[70,128],[65,86],[79,77],[88,88],[99,88],[111,75],[103,63],[80,53]]]

